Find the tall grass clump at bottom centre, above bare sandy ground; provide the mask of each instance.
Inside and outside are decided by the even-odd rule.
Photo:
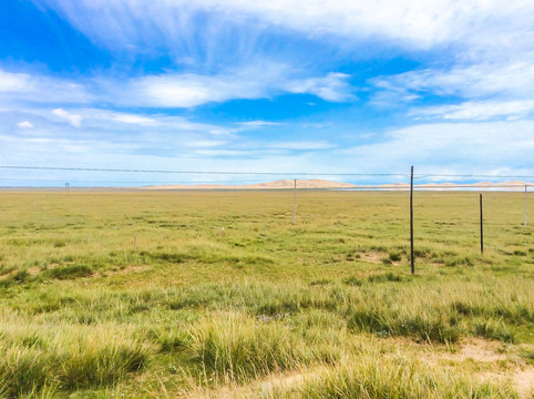
[[[188,349],[207,371],[246,381],[273,371],[297,369],[312,361],[333,362],[335,348],[309,347],[278,321],[239,314],[213,314],[189,330]]]

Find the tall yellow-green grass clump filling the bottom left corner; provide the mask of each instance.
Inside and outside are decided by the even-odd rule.
[[[0,330],[0,397],[113,386],[141,370],[150,355],[146,346],[115,326],[39,327],[6,320],[11,328]]]

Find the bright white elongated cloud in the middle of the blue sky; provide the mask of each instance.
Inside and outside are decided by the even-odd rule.
[[[351,101],[348,75],[295,78],[284,64],[264,62],[217,75],[167,73],[116,83],[111,99],[123,105],[192,108],[210,102],[256,100],[280,93],[312,94],[325,101]]]

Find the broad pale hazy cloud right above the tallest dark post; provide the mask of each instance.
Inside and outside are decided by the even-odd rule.
[[[425,173],[450,167],[455,173],[483,173],[503,167],[534,174],[534,121],[435,123],[396,129],[380,142],[345,150],[366,171]]]

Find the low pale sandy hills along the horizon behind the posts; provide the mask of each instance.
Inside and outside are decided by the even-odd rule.
[[[382,188],[382,190],[407,190],[410,187],[408,183],[393,183],[380,185],[357,185],[350,183],[331,182],[320,178],[297,180],[297,188]],[[415,184],[417,188],[428,190],[454,190],[454,188],[495,188],[495,190],[523,190],[526,186],[534,187],[533,183],[522,181],[511,181],[502,183],[479,182],[471,184],[456,183],[427,183]],[[141,187],[142,190],[290,190],[295,187],[295,180],[279,180],[275,182],[255,183],[255,184],[170,184],[153,185]]]

